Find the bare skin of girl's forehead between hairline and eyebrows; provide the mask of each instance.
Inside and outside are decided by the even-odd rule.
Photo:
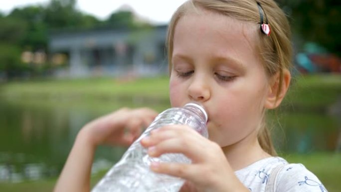
[[[173,43],[188,41],[195,37],[200,41],[229,42],[226,46],[244,44],[255,49],[259,25],[232,18],[213,11],[186,12],[179,18],[175,30]]]

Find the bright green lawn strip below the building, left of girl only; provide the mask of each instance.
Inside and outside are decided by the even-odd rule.
[[[122,80],[112,78],[9,82],[0,86],[2,98],[110,100],[113,98],[168,99],[167,77]]]

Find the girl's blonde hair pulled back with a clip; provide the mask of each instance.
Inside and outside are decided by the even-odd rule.
[[[264,20],[269,23],[271,33],[270,36],[267,36],[261,30],[258,30],[256,51],[259,53],[268,77],[272,77],[277,73],[279,74],[278,96],[282,88],[283,71],[289,69],[291,66],[292,46],[288,19],[282,9],[273,0],[188,0],[184,2],[173,14],[168,29],[167,47],[170,69],[175,26],[187,11],[195,9],[195,7],[200,7],[238,20],[260,24],[260,13],[257,2],[263,8],[265,13]],[[258,142],[264,151],[275,156],[277,153],[271,140],[270,131],[264,121],[263,119],[261,129],[258,133]]]

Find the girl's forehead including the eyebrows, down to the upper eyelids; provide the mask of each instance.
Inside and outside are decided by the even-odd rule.
[[[211,11],[204,13],[189,12],[178,20],[172,57],[187,55],[192,59],[228,58],[244,65],[259,63],[256,24]]]

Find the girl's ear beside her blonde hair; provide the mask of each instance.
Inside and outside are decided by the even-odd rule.
[[[268,95],[266,97],[266,101],[264,104],[265,108],[274,109],[281,104],[289,88],[290,79],[291,79],[291,75],[290,75],[289,70],[287,69],[283,70],[283,80],[281,82],[282,83],[281,87],[279,86],[280,85],[279,72],[277,72],[274,76],[271,77]]]

